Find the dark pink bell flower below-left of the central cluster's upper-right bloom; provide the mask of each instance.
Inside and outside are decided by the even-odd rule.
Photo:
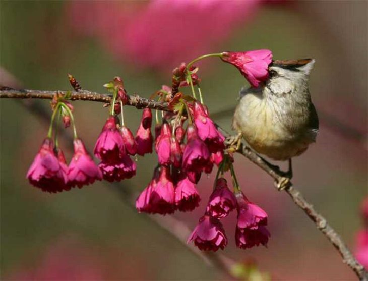
[[[198,137],[197,129],[193,125],[187,129],[188,143],[182,157],[182,167],[186,171],[201,172],[206,167],[210,152],[206,144]]]

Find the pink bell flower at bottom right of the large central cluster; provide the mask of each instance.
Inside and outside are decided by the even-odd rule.
[[[175,188],[176,208],[182,212],[192,211],[199,206],[200,201],[196,186],[183,174]]]

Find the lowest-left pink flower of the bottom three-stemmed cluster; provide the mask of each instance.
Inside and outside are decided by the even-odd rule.
[[[194,241],[195,246],[205,251],[217,251],[219,248],[223,250],[227,245],[225,230],[221,222],[207,214],[199,219],[187,243],[190,241]]]

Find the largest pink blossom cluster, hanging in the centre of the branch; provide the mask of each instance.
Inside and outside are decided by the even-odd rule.
[[[208,117],[207,109],[198,102],[187,106],[194,123],[186,129],[179,121],[182,117],[177,115],[167,116],[162,125],[156,125],[159,166],[137,199],[140,212],[170,214],[175,210],[193,210],[200,201],[196,184],[202,173],[211,173],[213,165],[222,160],[225,138]]]

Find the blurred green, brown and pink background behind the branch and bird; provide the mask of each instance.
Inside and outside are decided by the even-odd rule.
[[[83,88],[104,92],[102,85],[119,75],[129,93],[149,97],[170,83],[172,67],[208,52],[268,48],[275,59],[315,58],[310,90],[320,135],[294,160],[293,182],[354,249],[367,194],[366,1],[2,1],[0,15],[0,82],[14,87],[71,89],[70,72]],[[202,64],[199,75],[210,113],[230,130],[231,109],[247,82],[218,59]],[[48,101],[26,104],[49,110]],[[92,151],[107,109],[74,106],[79,135]],[[139,157],[137,176],[117,187],[99,182],[45,194],[25,175],[47,124],[17,100],[1,100],[0,109],[2,280],[226,279],[122,200],[124,190],[147,185],[155,155]],[[135,132],[140,111],[125,113]],[[232,214],[225,219],[226,256],[255,261],[273,280],[355,279],[269,176],[240,155],[235,162],[244,192],[268,212],[272,236],[268,248],[237,249]],[[199,208],[174,214],[190,228],[213,178],[198,185]]]

